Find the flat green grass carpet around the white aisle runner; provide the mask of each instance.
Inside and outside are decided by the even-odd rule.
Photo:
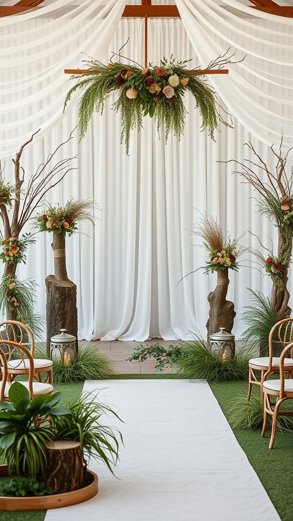
[[[169,379],[180,378],[176,374],[151,374],[151,375],[114,375],[113,379]],[[192,382],[191,382],[192,385]],[[78,397],[81,394],[83,382],[75,384],[55,386],[56,391],[63,392],[62,403],[66,404],[70,398]],[[235,398],[243,396],[247,391],[246,381],[229,381],[213,383],[210,385],[219,405],[221,406],[227,419],[229,411],[234,404]],[[258,392],[258,389],[255,390]],[[260,437],[260,431],[234,430],[234,434],[243,451],[257,472],[265,490],[275,505],[282,521],[292,521],[293,519],[293,494],[291,492],[291,482],[293,478],[293,432],[277,432],[275,448],[268,449],[270,431],[266,437]],[[43,521],[45,511],[35,512],[4,512],[0,511],[1,521]]]

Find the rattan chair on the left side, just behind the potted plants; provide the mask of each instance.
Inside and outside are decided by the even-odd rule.
[[[11,382],[9,378],[9,367],[6,359],[7,353],[2,349],[4,347],[6,350],[7,346],[11,350],[17,351],[20,357],[19,360],[23,363],[23,367],[26,367],[25,373],[22,372],[22,374],[26,374],[28,379],[25,381],[21,380],[19,383],[21,383],[29,390],[31,399],[35,398],[35,396],[39,396],[40,394],[51,394],[54,388],[50,383],[33,381],[34,365],[30,350],[24,345],[13,342],[12,340],[0,340],[0,361],[2,373],[1,401],[9,400],[9,388],[14,384],[14,382]]]

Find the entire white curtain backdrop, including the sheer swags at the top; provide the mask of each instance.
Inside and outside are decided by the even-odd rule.
[[[107,63],[112,51],[137,61],[144,56],[142,19],[120,19],[125,0],[46,0],[25,14],[0,19],[0,157],[5,181],[13,182],[12,158],[31,134],[41,129],[25,148],[25,178],[44,162],[78,123],[77,93],[63,114],[72,81],[65,68],[82,68],[93,57]],[[160,2],[161,3],[161,2]],[[163,2],[162,2],[163,3]],[[164,2],[174,3],[171,1]],[[7,1],[0,0],[0,6]],[[56,161],[75,157],[63,182],[47,195],[47,203],[63,205],[71,198],[100,204],[95,226],[84,223],[66,240],[67,271],[77,284],[79,338],[136,340],[162,337],[190,339],[205,336],[209,314],[207,294],[216,275],[204,275],[206,252],[193,234],[194,223],[207,212],[223,229],[247,233],[241,243],[276,254],[277,233],[257,212],[255,194],[238,175],[231,159],[243,162],[253,155],[251,142],[272,169],[283,135],[283,151],[293,145],[292,43],[293,21],[266,15],[244,0],[176,0],[181,19],[149,20],[149,60],[163,56],[191,58],[189,68],[205,68],[211,60],[235,52],[229,74],[208,82],[219,104],[233,118],[233,129],[219,126],[215,142],[201,132],[194,99],[186,96],[188,110],[184,137],[178,142],[144,118],[143,130],[131,132],[130,152],[120,144],[120,115],[108,100],[104,114],[94,115],[86,137],[79,143],[78,129],[56,155]],[[286,5],[286,2],[283,2]],[[292,154],[288,157],[290,173]],[[42,211],[42,207],[40,208]],[[29,231],[27,229],[26,231]],[[19,265],[20,280],[39,284],[35,311],[45,314],[44,279],[53,273],[52,237],[38,235],[30,245],[26,265]],[[245,325],[248,288],[269,295],[271,280],[253,269],[243,256],[239,272],[230,272],[227,298],[235,303],[234,333]],[[292,292],[290,283],[289,291]]]

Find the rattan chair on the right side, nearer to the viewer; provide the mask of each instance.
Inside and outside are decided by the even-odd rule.
[[[270,439],[270,444],[268,445],[269,449],[273,449],[274,441],[276,437],[276,429],[277,429],[277,419],[279,414],[284,415],[293,415],[293,410],[281,410],[280,405],[285,400],[293,399],[293,380],[290,378],[285,378],[286,373],[286,354],[289,350],[293,349],[293,342],[286,345],[283,349],[282,353],[279,357],[279,374],[280,378],[273,380],[266,380],[266,378],[271,375],[270,368],[264,375],[264,382],[262,385],[263,391],[263,427],[261,437],[263,438],[265,435],[268,415],[273,416],[273,426],[272,426],[272,434]],[[272,401],[272,396],[274,396],[274,401]]]

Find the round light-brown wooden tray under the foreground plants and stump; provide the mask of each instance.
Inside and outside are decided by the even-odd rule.
[[[0,465],[0,477],[8,476],[7,465]],[[97,475],[88,470],[90,485],[72,492],[42,495],[32,498],[11,498],[0,496],[0,510],[48,510],[62,506],[76,505],[93,498],[97,494]]]

